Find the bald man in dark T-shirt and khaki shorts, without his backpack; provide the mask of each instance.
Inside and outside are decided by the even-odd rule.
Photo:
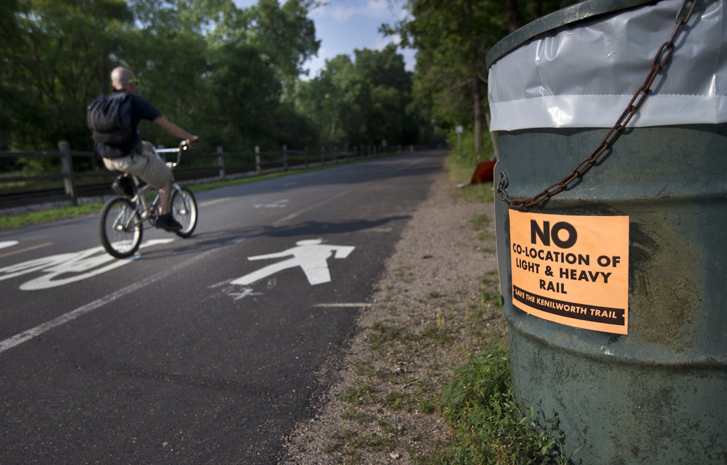
[[[159,217],[156,220],[156,227],[166,231],[177,231],[182,225],[169,212],[169,200],[174,182],[172,170],[154,152],[150,144],[142,143],[139,138],[139,122],[142,119],[153,121],[174,137],[186,140],[190,146],[194,145],[199,137],[166,119],[153,105],[138,96],[136,94],[138,83],[131,70],[119,66],[111,71],[113,96],[124,93],[127,95],[126,100],[130,102],[132,136],[126,142],[109,144],[99,142],[95,134],[95,150],[103,158],[107,169],[135,174],[156,187],[159,190]]]

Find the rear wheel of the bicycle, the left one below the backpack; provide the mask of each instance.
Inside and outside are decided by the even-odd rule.
[[[112,198],[101,210],[99,235],[106,251],[117,259],[136,253],[144,229],[134,204],[125,197]]]

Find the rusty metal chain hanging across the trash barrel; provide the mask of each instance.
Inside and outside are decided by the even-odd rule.
[[[575,169],[571,172],[571,174],[564,177],[560,182],[555,182],[553,185],[547,187],[541,193],[531,198],[510,198],[510,196],[507,195],[507,191],[505,190],[505,187],[507,187],[509,182],[507,181],[507,177],[505,176],[505,174],[501,172],[499,181],[497,183],[497,197],[501,201],[505,201],[508,205],[510,205],[511,208],[523,210],[531,206],[538,205],[542,201],[553,197],[553,195],[563,192],[563,190],[566,190],[577,179],[582,178],[586,171],[591,169],[595,165],[595,163],[598,162],[598,158],[601,158],[601,155],[603,155],[603,153],[606,153],[606,151],[611,148],[611,145],[614,145],[614,142],[616,142],[619,136],[621,136],[624,128],[627,126],[627,124],[629,124],[629,121],[631,121],[631,118],[634,117],[640,106],[643,104],[644,100],[646,100],[649,92],[651,92],[651,84],[654,83],[656,75],[659,74],[659,71],[664,69],[664,67],[669,62],[669,59],[674,52],[674,41],[676,39],[676,36],[678,35],[681,27],[688,22],[692,12],[694,12],[694,7],[696,7],[696,3],[696,0],[682,1],[679,6],[677,15],[674,18],[676,22],[674,31],[672,32],[669,40],[664,42],[664,44],[659,47],[656,55],[654,55],[654,60],[651,60],[651,70],[649,70],[648,76],[646,76],[646,81],[644,81],[642,86],[640,86],[636,93],[633,95],[633,97],[631,97],[631,101],[629,102],[621,116],[619,116],[619,119],[616,121],[614,127],[612,127],[606,133],[606,137],[603,137],[601,145],[598,145],[598,147],[593,150],[593,153],[591,153],[580,163],[578,163]]]

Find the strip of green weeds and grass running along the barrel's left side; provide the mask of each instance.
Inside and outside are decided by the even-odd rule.
[[[477,161],[478,157],[471,152],[450,157],[447,165],[450,177],[467,181]],[[491,202],[494,200],[492,187],[492,182],[467,185],[458,190],[457,197],[465,201]],[[475,215],[470,219],[470,225],[478,231],[479,240],[494,242],[494,235],[489,232],[488,215]],[[483,251],[494,253],[495,249],[483,247]],[[466,306],[470,326],[461,329],[470,336],[486,337],[489,345],[454,371],[453,379],[438,400],[438,409],[452,430],[451,438],[439,444],[433,455],[421,458],[419,463],[568,464],[557,416],[523,408],[514,402],[507,347],[497,337],[488,337],[481,330],[484,321],[502,315],[497,272],[489,272],[480,279],[478,297],[478,302],[469,302]]]

